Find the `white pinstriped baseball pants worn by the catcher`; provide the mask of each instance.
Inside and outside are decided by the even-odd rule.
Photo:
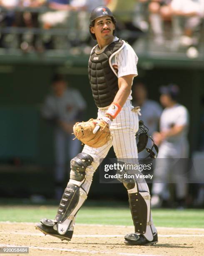
[[[110,133],[112,135],[112,140],[109,140],[107,144],[100,148],[92,148],[85,145],[82,152],[89,154],[93,158],[93,162],[86,169],[85,182],[82,184],[82,188],[88,193],[92,177],[100,164],[100,159],[105,158],[109,149],[113,146],[114,152],[118,160],[123,161],[123,159],[128,159],[128,161],[133,161],[132,164],[137,164],[138,154],[137,154],[137,143],[135,135],[139,128],[138,115],[132,112],[132,103],[127,100],[124,104],[122,110],[113,120],[110,125]],[[100,108],[98,110],[98,118],[102,117],[107,111],[107,108]],[[149,192],[147,183],[140,181],[138,183],[138,189],[140,192]]]

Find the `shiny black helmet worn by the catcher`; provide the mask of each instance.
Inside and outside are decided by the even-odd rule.
[[[89,29],[94,26],[95,19],[102,17],[102,16],[110,16],[112,19],[112,22],[114,23],[114,25],[116,25],[116,20],[113,16],[112,11],[109,8],[107,8],[106,6],[98,6],[94,10],[92,10],[92,12],[90,14]],[[113,34],[114,34],[114,32],[115,31],[113,31]],[[90,34],[91,34],[92,38],[96,40],[95,34],[93,34],[91,31],[90,31]]]

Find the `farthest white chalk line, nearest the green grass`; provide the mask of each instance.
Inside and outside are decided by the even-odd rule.
[[[35,225],[35,222],[17,222],[17,221],[0,221],[0,224],[26,224],[26,225]],[[116,228],[134,228],[133,225],[106,225],[106,224],[85,224],[78,223],[76,226],[87,226],[87,227],[116,227]],[[193,230],[193,231],[204,231],[204,228],[173,228],[173,227],[157,227],[157,229],[164,230]]]

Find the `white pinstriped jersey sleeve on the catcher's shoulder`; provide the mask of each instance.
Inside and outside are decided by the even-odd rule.
[[[116,62],[118,66],[118,78],[129,74],[134,74],[134,77],[138,75],[137,73],[137,61],[138,57],[132,47],[124,43],[125,46],[119,54],[116,56]]]

